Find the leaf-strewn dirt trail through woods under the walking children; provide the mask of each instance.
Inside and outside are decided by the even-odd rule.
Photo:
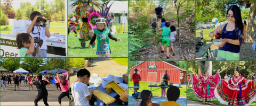
[[[148,20],[147,23],[150,22],[151,20]],[[176,22],[175,19],[166,20],[166,22],[170,22],[171,25],[178,27],[178,22]],[[176,42],[173,44],[175,56],[172,55],[173,51],[169,46],[169,55],[171,56],[169,59],[166,59],[166,46],[164,45],[164,53],[162,54],[162,43],[159,43],[158,47],[154,45],[148,47],[147,50],[141,52],[143,55],[137,56],[135,60],[195,60],[195,34],[193,34],[195,31],[189,29],[190,24],[189,20],[180,22],[180,27],[185,28],[181,29],[179,32],[180,41],[176,39]],[[190,43],[190,45],[188,45],[188,43]]]

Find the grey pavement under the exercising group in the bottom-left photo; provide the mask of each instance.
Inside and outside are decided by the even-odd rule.
[[[38,94],[38,92],[36,91],[37,89],[35,85],[33,85],[33,89],[35,91],[33,91],[31,87],[30,87],[30,91],[28,91],[28,84],[26,83],[25,84],[21,83],[21,85],[19,86],[20,91],[18,91],[17,86],[16,86],[16,91],[14,91],[14,85],[6,84],[6,87],[7,87],[7,90],[5,89],[2,90],[1,88],[1,105],[4,105],[2,103],[11,103],[12,105],[15,105],[16,103],[18,105],[21,105],[19,103],[23,103],[23,102],[26,102],[25,104],[27,103],[29,104],[31,102],[32,105],[34,105],[34,100]],[[54,84],[46,85],[46,89],[48,91],[47,101],[49,101],[49,105],[51,105],[50,102],[58,103],[58,97],[61,94],[61,91],[56,90],[56,85]],[[63,103],[65,103],[64,101],[68,103],[69,99],[68,97],[65,97],[65,98],[62,98],[61,101]]]

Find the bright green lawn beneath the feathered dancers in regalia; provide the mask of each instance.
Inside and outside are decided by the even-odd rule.
[[[88,48],[90,41],[86,41],[85,48],[82,48],[81,43],[78,41],[78,38],[80,38],[79,34],[77,37],[74,36],[74,32],[70,32],[69,34],[68,57],[98,57],[95,53],[98,40],[95,40],[95,49],[92,49],[92,47],[90,49]],[[128,33],[115,33],[114,36],[120,38],[121,41],[109,40],[111,49],[110,57],[128,57]]]

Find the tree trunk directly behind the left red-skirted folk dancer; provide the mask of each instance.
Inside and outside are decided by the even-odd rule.
[[[201,75],[207,72],[207,75],[212,75],[212,61],[197,61]]]

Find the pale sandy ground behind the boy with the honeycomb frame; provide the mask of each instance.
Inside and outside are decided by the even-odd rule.
[[[70,84],[77,81],[76,73],[81,68],[70,68],[73,69],[74,74],[71,74],[69,82]],[[89,72],[97,73],[99,77],[107,77],[109,74],[114,76],[123,77],[123,74],[127,72],[128,66],[119,65],[112,58],[93,58],[93,63],[91,67],[86,67]]]

